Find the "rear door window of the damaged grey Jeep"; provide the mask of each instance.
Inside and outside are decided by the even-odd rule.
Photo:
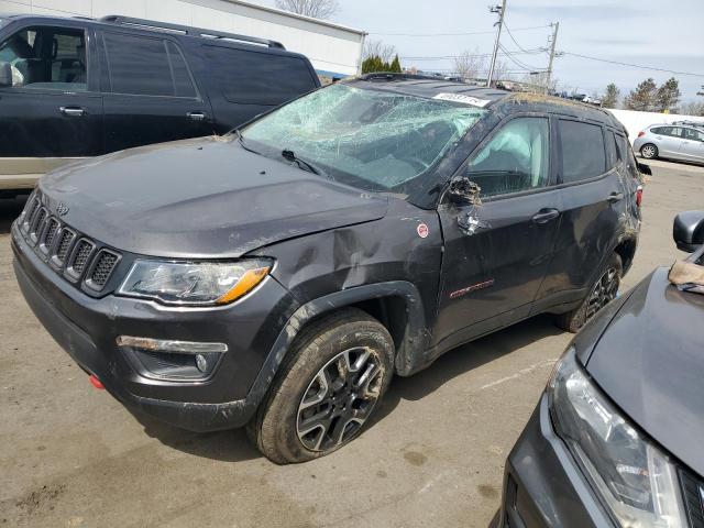
[[[560,120],[560,144],[564,184],[593,178],[606,170],[606,152],[601,127]]]

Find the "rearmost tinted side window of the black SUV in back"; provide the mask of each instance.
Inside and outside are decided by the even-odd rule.
[[[271,53],[207,46],[223,97],[241,105],[280,105],[317,87],[306,62]]]

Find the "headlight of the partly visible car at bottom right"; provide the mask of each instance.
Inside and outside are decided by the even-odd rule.
[[[676,468],[565,353],[548,386],[558,435],[623,527],[688,526]]]

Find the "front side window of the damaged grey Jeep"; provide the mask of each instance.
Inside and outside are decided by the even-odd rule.
[[[517,118],[504,125],[470,161],[466,175],[492,197],[547,187],[550,179],[547,118]]]

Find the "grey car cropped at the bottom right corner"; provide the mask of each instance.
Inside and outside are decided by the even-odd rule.
[[[704,280],[704,211],[674,239]],[[508,457],[499,526],[702,526],[703,316],[659,268],[584,327]]]

